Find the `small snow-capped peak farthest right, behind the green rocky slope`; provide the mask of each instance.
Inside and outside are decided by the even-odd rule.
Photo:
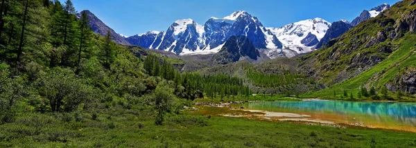
[[[357,26],[358,24],[360,24],[363,21],[366,21],[367,19],[370,19],[372,17],[377,17],[377,15],[379,15],[384,10],[387,10],[388,8],[390,8],[390,5],[387,3],[383,3],[382,5],[377,6],[376,8],[372,8],[370,11],[363,10],[363,12],[361,12],[361,15],[359,17],[356,17],[356,19],[354,19],[351,22],[351,25]]]

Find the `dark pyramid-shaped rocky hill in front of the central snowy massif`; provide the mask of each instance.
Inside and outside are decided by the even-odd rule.
[[[252,41],[245,36],[232,36],[225,42],[223,48],[213,57],[216,64],[227,64],[229,62],[237,62],[241,57],[249,57],[257,60],[260,57]]]

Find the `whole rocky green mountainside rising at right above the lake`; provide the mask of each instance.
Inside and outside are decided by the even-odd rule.
[[[343,90],[356,93],[361,86],[388,86],[390,91],[411,93],[416,77],[404,71],[416,67],[415,4],[414,0],[399,1],[320,50],[297,57],[302,73],[331,86],[315,95],[329,97]]]

